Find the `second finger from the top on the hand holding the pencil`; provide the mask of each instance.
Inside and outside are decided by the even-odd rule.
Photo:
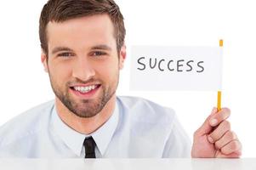
[[[208,141],[214,143],[219,140],[226,132],[230,131],[230,122],[224,121],[219,124],[219,126],[213,130],[212,133],[208,135]]]

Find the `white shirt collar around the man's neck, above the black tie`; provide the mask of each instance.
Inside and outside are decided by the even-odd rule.
[[[92,136],[95,143],[97,144],[98,149],[100,150],[101,156],[105,154],[108,144],[111,142],[111,138],[117,128],[118,118],[119,118],[119,109],[116,102],[116,106],[111,117],[105,122],[99,129],[91,134],[82,134],[78,133],[71,127],[67,126],[65,122],[62,122],[60,116],[58,116],[56,107],[54,105],[53,109],[53,127],[56,133],[64,141],[64,143],[77,155],[81,156],[82,153],[82,144],[86,137]]]

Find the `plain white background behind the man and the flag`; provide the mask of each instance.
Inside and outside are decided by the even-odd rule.
[[[128,59],[117,94],[151,99],[175,109],[192,138],[216,105],[216,92],[129,91],[130,45],[218,46],[224,39],[223,105],[243,144],[255,157],[255,1],[118,0],[127,28]],[[20,112],[54,99],[40,63],[38,19],[45,0],[0,5],[0,125]]]

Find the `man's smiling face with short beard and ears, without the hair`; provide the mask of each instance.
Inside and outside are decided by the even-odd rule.
[[[54,94],[80,117],[97,115],[115,97],[125,48],[117,54],[107,14],[49,22],[48,59],[42,54]],[[119,59],[118,59],[119,55]]]

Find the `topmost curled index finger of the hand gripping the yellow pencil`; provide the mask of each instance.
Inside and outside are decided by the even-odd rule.
[[[212,127],[216,127],[219,123],[225,121],[230,116],[230,109],[223,108],[218,113],[211,116],[209,123]]]

